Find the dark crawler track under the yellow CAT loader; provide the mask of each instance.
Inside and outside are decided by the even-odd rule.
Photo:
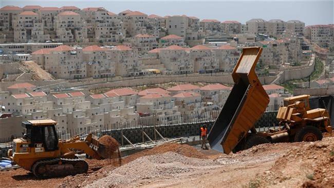
[[[38,178],[53,178],[86,173],[88,164],[82,159],[55,158],[33,164],[32,173]]]

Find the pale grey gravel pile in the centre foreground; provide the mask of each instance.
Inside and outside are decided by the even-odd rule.
[[[199,172],[203,168],[221,167],[209,159],[197,159],[167,152],[160,155],[144,156],[129,162],[86,187],[110,187],[133,183],[142,179],[178,177],[183,173]]]

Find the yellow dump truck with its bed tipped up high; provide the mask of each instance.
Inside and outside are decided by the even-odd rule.
[[[284,99],[279,108],[279,127],[257,131],[254,124],[261,118],[269,96],[255,73],[261,47],[243,48],[234,67],[231,93],[208,135],[211,148],[229,154],[262,143],[317,141],[322,133],[331,133],[326,109],[311,109],[309,95]]]

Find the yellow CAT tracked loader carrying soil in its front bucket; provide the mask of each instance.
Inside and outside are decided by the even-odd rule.
[[[77,153],[85,153],[94,159],[107,159],[115,152],[115,148],[99,142],[92,134],[88,134],[85,140],[78,136],[59,140],[56,124],[53,120],[22,122],[26,134],[13,140],[8,157],[38,178],[52,178],[86,173],[88,164],[76,157]]]

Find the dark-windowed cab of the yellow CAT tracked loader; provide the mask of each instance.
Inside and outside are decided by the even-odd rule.
[[[22,122],[26,128],[26,134],[23,139],[27,139],[29,147],[41,149],[40,152],[51,152],[58,149],[58,136],[54,125],[57,122],[53,120],[29,120]],[[44,148],[44,151],[43,151]]]

